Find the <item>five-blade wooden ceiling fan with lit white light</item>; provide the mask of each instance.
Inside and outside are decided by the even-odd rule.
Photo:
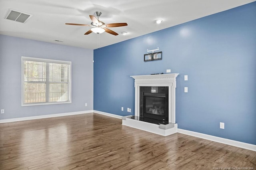
[[[92,32],[97,33],[97,34],[101,34],[103,32],[107,32],[109,34],[112,34],[114,36],[117,36],[118,34],[110,29],[108,29],[107,27],[122,27],[122,26],[127,26],[127,23],[112,23],[112,24],[105,24],[104,22],[99,20],[100,15],[102,14],[101,12],[95,12],[96,16],[98,18],[96,18],[95,16],[89,15],[90,19],[92,20],[90,25],[86,25],[86,24],[72,24],[72,23],[66,23],[66,25],[73,25],[73,26],[90,26],[92,27],[88,32],[86,32],[84,35],[88,35]]]

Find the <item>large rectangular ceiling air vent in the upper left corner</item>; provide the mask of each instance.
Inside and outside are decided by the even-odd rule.
[[[17,10],[9,9],[4,18],[8,19],[8,20],[13,20],[13,21],[25,23],[25,22],[28,21],[28,19],[31,16],[32,15],[28,14],[28,13],[24,13],[24,12],[20,12],[20,11],[17,11]]]

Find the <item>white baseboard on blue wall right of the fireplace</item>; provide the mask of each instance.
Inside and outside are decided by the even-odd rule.
[[[255,144],[249,144],[249,143],[239,142],[239,141],[236,141],[236,140],[220,138],[220,137],[217,137],[217,136],[212,136],[212,135],[208,135],[208,134],[193,132],[193,131],[190,131],[190,130],[184,130],[184,129],[180,129],[180,128],[178,128],[178,133],[187,134],[187,135],[190,135],[190,136],[195,136],[195,137],[198,137],[198,138],[211,140],[211,141],[219,142],[219,143],[223,143],[223,144],[228,144],[228,145],[231,145],[231,146],[236,146],[238,148],[243,148],[243,149],[256,151],[256,145]]]

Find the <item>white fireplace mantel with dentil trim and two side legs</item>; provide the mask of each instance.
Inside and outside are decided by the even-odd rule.
[[[168,113],[169,122],[175,123],[175,89],[176,77],[178,73],[173,74],[155,74],[155,75],[132,75],[135,87],[135,116],[140,115],[140,86],[168,87]]]

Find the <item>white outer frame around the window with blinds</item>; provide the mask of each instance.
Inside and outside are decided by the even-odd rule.
[[[46,63],[58,63],[58,64],[68,64],[70,65],[70,70],[69,70],[69,82],[68,82],[68,91],[69,91],[69,95],[68,95],[68,101],[61,101],[61,102],[38,102],[38,103],[24,103],[24,63],[23,61],[38,61],[38,62],[46,62]],[[55,60],[55,59],[43,59],[43,58],[35,58],[35,57],[25,57],[22,56],[21,57],[21,81],[22,81],[22,85],[21,85],[21,106],[36,106],[36,105],[54,105],[54,104],[64,104],[64,103],[72,103],[71,101],[71,71],[72,71],[72,62],[71,61],[62,61],[62,60]],[[49,74],[49,73],[47,73]],[[48,83],[47,83],[48,82]],[[47,80],[46,81],[46,86],[47,84],[49,84],[50,82]]]

